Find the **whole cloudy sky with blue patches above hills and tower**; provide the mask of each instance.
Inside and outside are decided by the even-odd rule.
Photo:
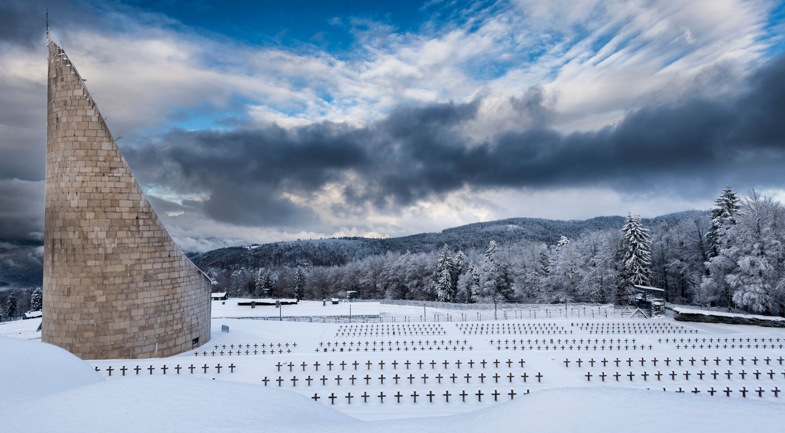
[[[46,37],[184,250],[785,199],[768,0],[0,2],[0,240],[40,237]]]

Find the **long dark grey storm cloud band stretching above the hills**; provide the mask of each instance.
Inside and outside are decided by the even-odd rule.
[[[479,101],[399,107],[367,127],[319,123],[293,130],[177,131],[126,151],[144,182],[206,193],[203,211],[249,225],[298,224],[301,207],[281,193],[344,182],[349,214],[410,204],[465,185],[605,186],[633,193],[699,196],[731,183],[780,187],[785,174],[785,58],[761,68],[742,91],[685,97],[630,112],[600,130],[548,127],[542,94],[513,107],[523,131],[467,141],[460,127]],[[539,117],[538,117],[539,116]],[[531,122],[531,118],[539,119]]]

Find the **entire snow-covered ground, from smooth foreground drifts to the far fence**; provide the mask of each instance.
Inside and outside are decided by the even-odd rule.
[[[319,316],[344,305],[316,304]],[[417,310],[375,308],[382,316]],[[17,380],[16,391],[0,391],[0,419],[46,407],[37,431],[779,431],[785,421],[781,328],[670,317],[380,324],[214,316],[210,342],[172,358],[85,362],[53,347],[57,356],[39,357],[19,345],[49,347],[35,336],[0,339],[0,383],[39,371],[57,372],[43,380],[50,384],[75,377],[64,387]],[[24,322],[0,324],[0,334],[30,338],[38,324]],[[24,365],[31,357],[41,361]],[[91,384],[86,373],[104,380]]]

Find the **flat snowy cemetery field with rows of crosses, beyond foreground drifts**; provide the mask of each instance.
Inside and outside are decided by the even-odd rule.
[[[775,392],[785,389],[785,365],[778,361],[785,336],[776,332],[716,335],[666,320],[619,319],[403,324],[214,319],[213,328],[225,323],[230,332],[214,332],[210,343],[189,354],[90,363],[107,377],[111,366],[112,379],[122,365],[141,366],[141,372],[128,370],[131,377],[120,380],[162,376],[163,365],[169,376],[179,365],[181,375],[294,391],[361,420],[448,416],[561,387],[664,388],[692,397],[785,402],[785,394]],[[477,329],[489,333],[472,334]],[[718,392],[726,388],[727,394]]]

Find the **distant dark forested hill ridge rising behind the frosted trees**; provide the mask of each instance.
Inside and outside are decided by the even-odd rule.
[[[644,218],[644,225],[651,226],[659,220],[680,220],[688,211]],[[507,218],[490,222],[475,222],[466,226],[444,229],[438,233],[419,233],[411,236],[386,239],[347,237],[340,239],[293,240],[264,244],[252,249],[247,247],[218,248],[203,253],[189,253],[196,266],[207,270],[210,266],[221,269],[233,267],[259,268],[262,266],[334,266],[360,260],[368,255],[385,254],[387,251],[433,251],[444,244],[468,251],[484,248],[488,241],[506,244],[521,239],[539,240],[555,244],[560,237],[575,239],[583,232],[600,229],[621,229],[624,217],[606,216],[586,220],[553,220],[544,218]]]

